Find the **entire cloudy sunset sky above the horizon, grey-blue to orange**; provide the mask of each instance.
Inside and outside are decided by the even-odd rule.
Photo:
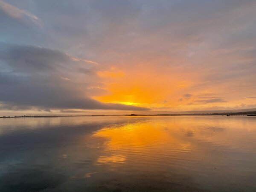
[[[256,108],[255,0],[0,0],[0,116]]]

